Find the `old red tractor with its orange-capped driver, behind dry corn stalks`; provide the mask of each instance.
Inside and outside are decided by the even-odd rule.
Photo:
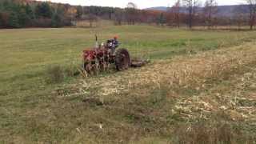
[[[117,37],[107,40],[101,45],[98,45],[98,38],[95,37],[95,47],[91,50],[83,50],[82,54],[83,68],[87,74],[98,74],[99,71],[108,70],[111,64],[114,64],[118,71],[129,68],[130,54],[128,50],[118,48]]]

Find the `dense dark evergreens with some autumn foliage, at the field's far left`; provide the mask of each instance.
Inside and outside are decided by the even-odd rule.
[[[69,11],[64,5],[50,2],[2,0],[0,2],[0,27],[59,27],[70,26]]]

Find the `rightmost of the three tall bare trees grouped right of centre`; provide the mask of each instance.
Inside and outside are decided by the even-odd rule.
[[[206,24],[208,29],[210,29],[213,26],[213,16],[218,12],[218,3],[216,0],[206,0],[203,11],[206,16]]]

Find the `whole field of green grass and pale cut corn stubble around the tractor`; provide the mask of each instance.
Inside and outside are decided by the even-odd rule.
[[[150,64],[70,76],[94,34],[118,35]],[[255,143],[255,39],[156,26],[0,30],[0,142]],[[54,66],[62,82],[49,82]]]

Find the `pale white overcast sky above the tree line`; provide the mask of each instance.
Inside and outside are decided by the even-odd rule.
[[[49,1],[49,0],[47,0]],[[176,0],[50,0],[51,2],[70,3],[71,5],[82,6],[114,6],[126,7],[128,2],[134,2],[138,8],[148,8],[154,6],[172,6]],[[201,0],[204,2],[205,0]],[[217,0],[218,5],[236,5],[245,0]]]

